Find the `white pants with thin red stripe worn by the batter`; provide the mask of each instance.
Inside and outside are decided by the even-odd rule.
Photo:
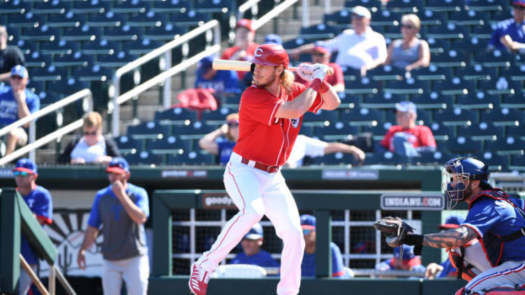
[[[304,253],[299,211],[281,171],[270,174],[244,165],[242,157],[232,153],[224,172],[224,186],[239,213],[230,219],[209,251],[198,259],[200,267],[212,273],[242,237],[266,215],[283,240],[281,280],[277,294],[295,295],[301,283]]]

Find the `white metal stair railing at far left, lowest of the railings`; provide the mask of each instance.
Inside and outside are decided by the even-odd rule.
[[[35,138],[36,137],[36,119],[46,114],[49,114],[50,112],[54,112],[55,110],[61,107],[65,107],[66,105],[69,105],[70,103],[74,103],[75,101],[80,100],[81,98],[86,99],[84,100],[84,103],[82,103],[84,112],[91,112],[93,110],[93,95],[91,94],[91,90],[84,89],[84,90],[78,91],[77,93],[72,94],[71,96],[68,96],[62,100],[57,101],[57,103],[48,105],[47,107],[44,107],[43,109],[40,109],[37,112],[34,112],[33,114],[30,114],[29,116],[26,116],[4,128],[1,128],[0,136],[3,136],[9,133],[11,130],[18,128],[20,126],[24,126],[25,124],[31,122],[31,124],[29,125],[29,144],[1,158],[0,165],[5,165],[6,163],[28,152],[29,152],[29,158],[31,160],[35,160],[35,150],[38,149],[38,147],[43,146],[44,144],[47,144],[47,142],[51,142],[53,139],[61,137],[62,135],[65,135],[77,128],[82,127],[82,123],[84,122],[84,119],[78,119],[77,121],[74,121],[73,123],[70,123],[67,126],[59,128],[58,130],[55,130],[53,133],[45,135],[44,137],[35,141],[36,139]]]

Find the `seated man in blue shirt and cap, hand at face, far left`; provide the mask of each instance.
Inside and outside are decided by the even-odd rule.
[[[40,98],[26,89],[29,73],[24,66],[11,69],[8,91],[0,94],[0,127],[15,123],[40,109]],[[24,125],[28,128],[30,123]],[[17,145],[27,144],[27,132],[22,127],[15,128],[7,135],[6,155],[13,153]]]

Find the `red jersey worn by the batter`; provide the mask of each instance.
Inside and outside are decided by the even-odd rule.
[[[290,96],[282,87],[279,96],[274,96],[264,87],[249,86],[239,103],[239,139],[233,151],[265,165],[284,165],[299,134],[302,116],[284,119],[276,118],[275,113],[281,104],[295,99],[304,90],[306,86],[294,83]],[[317,112],[321,105],[323,100],[318,94],[308,111]]]

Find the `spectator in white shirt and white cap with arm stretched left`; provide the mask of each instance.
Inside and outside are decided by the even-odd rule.
[[[362,76],[367,70],[376,68],[387,59],[385,37],[370,27],[371,14],[363,6],[352,8],[352,27],[335,38],[302,45],[290,50],[290,57],[297,59],[300,54],[311,52],[316,46],[338,52],[335,63],[360,70]]]

